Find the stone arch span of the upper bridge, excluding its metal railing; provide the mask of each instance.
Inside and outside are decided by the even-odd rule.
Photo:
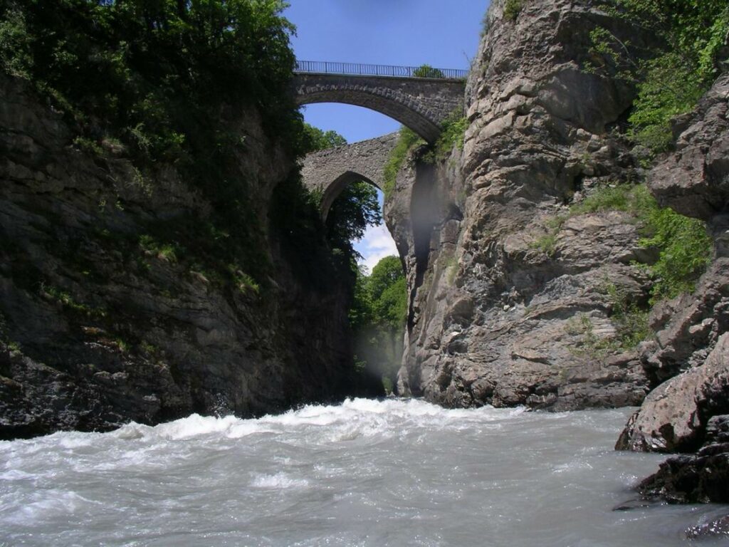
[[[381,112],[412,129],[428,142],[440,125],[463,104],[462,79],[354,76],[298,73],[296,103],[345,103]]]

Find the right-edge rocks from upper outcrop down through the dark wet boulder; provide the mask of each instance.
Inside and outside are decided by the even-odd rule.
[[[729,74],[677,123],[677,150],[650,174],[663,204],[706,220],[714,261],[693,295],[652,312],[655,341],[642,362],[667,379],[631,417],[618,449],[690,452],[668,459],[639,486],[672,503],[729,502]],[[677,375],[678,376],[674,376]],[[723,524],[722,524],[723,523]],[[726,519],[717,523],[725,529]],[[706,530],[695,530],[701,535]]]

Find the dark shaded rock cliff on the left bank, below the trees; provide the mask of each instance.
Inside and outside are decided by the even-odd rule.
[[[313,282],[270,228],[292,162],[254,112],[236,123],[251,143],[238,169],[253,181],[252,237],[272,264],[260,293],[140,243],[151,226],[192,230],[211,214],[174,168],[150,181],[113,151],[77,150],[18,80],[1,77],[0,97],[0,438],[343,394],[351,280]]]

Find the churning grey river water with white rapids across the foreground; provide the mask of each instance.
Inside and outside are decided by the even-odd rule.
[[[726,511],[612,511],[662,459],[612,449],[629,414],[356,399],[0,442],[0,545],[692,545]]]

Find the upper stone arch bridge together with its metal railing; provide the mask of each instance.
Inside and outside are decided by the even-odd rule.
[[[429,66],[383,66],[297,61],[293,87],[299,105],[346,103],[381,112],[428,142],[463,104],[467,71]]]

